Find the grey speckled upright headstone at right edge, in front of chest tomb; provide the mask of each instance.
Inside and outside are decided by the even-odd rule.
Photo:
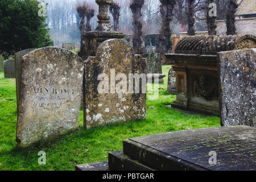
[[[256,49],[218,53],[221,125],[247,125],[256,121]]]

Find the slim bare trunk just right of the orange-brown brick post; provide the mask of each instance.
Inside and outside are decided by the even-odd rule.
[[[188,20],[188,35],[195,35],[194,23],[195,19],[193,17],[193,3],[195,0],[187,0],[187,20]]]

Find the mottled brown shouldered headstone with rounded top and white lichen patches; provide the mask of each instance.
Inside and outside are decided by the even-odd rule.
[[[135,73],[142,76],[140,82],[134,81]],[[120,85],[121,81],[125,82]],[[139,88],[138,92],[134,92],[134,85]],[[146,60],[134,55],[133,48],[124,40],[106,40],[98,47],[96,57],[85,61],[84,93],[84,126],[87,128],[144,119]]]

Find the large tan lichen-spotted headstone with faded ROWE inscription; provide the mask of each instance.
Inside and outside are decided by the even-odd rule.
[[[45,47],[22,57],[16,142],[28,146],[79,126],[84,63]]]

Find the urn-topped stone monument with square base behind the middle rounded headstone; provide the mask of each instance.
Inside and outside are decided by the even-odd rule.
[[[109,6],[113,4],[113,0],[96,0],[99,6],[98,13],[98,27],[94,31],[86,32],[82,35],[85,44],[81,48],[79,56],[82,59],[87,59],[89,56],[96,56],[98,46],[105,40],[122,39],[125,37],[120,32],[112,29],[110,23]]]

